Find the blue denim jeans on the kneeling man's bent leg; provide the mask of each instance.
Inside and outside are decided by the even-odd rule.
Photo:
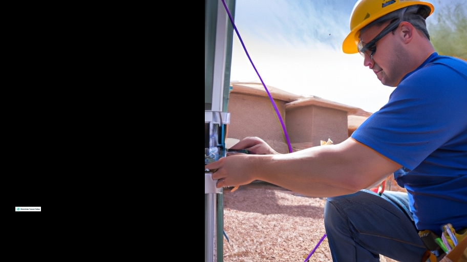
[[[379,254],[397,261],[421,261],[421,242],[409,211],[407,193],[369,190],[328,198],[324,223],[336,261],[379,261]]]

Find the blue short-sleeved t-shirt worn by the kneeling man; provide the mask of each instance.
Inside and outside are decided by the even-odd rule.
[[[467,62],[433,53],[352,138],[403,166],[418,230],[467,227]]]

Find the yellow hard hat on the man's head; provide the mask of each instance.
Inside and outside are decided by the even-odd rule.
[[[430,14],[433,13],[432,4],[414,0],[358,0],[350,15],[350,33],[342,43],[342,50],[346,54],[358,53],[357,45],[359,42],[360,29],[369,25],[372,21],[381,16],[391,13],[400,8],[424,5],[430,8]]]

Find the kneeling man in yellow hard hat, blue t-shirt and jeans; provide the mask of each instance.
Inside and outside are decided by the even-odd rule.
[[[361,0],[350,19],[345,53],[359,52],[381,83],[397,86],[389,102],[346,141],[278,154],[259,138],[206,166],[218,187],[254,180],[328,197],[325,227],[334,261],[422,261],[418,232],[467,228],[467,62],[439,56],[421,1]],[[371,185],[394,173],[408,194],[379,196]],[[436,253],[436,251],[435,251]],[[439,255],[439,253],[436,253]]]

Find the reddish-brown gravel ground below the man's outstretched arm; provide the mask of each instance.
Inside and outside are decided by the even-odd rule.
[[[224,190],[224,261],[304,261],[325,234],[324,205],[259,181]],[[332,261],[327,238],[309,261]]]

